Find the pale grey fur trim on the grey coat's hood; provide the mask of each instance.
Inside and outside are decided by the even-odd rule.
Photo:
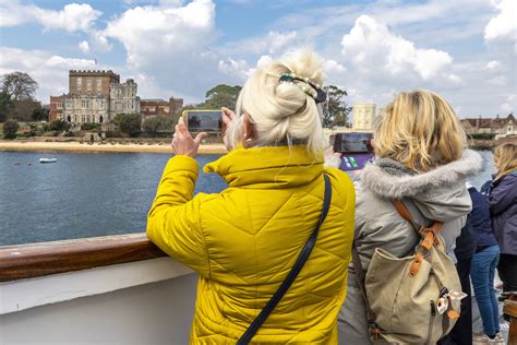
[[[414,174],[393,159],[378,158],[364,167],[361,181],[384,198],[416,198],[431,189],[446,191],[458,185],[465,189],[466,176],[477,172],[481,167],[481,156],[472,150],[465,150],[458,160],[423,174]]]

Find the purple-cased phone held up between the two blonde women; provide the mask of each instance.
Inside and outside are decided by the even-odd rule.
[[[334,152],[341,154],[339,169],[344,171],[360,170],[373,156],[371,133],[337,133],[334,136]]]

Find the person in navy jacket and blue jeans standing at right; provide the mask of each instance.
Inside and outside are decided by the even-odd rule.
[[[500,259],[500,247],[492,230],[489,201],[473,186],[467,183],[472,212],[470,219],[476,234],[477,249],[472,257],[470,276],[483,321],[483,333],[474,334],[472,344],[504,344],[500,332],[500,313],[495,297],[495,267]]]

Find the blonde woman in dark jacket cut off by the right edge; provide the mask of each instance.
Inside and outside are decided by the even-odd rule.
[[[490,216],[501,248],[497,271],[506,296],[517,294],[517,144],[495,147],[494,163],[497,172],[489,194]]]

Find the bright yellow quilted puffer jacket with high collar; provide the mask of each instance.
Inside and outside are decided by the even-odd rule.
[[[251,324],[316,226],[325,171],[333,198],[316,245],[252,343],[337,344],[353,238],[348,176],[301,146],[238,147],[204,171],[229,188],[192,199],[197,163],[171,158],[147,219],[149,239],[200,274],[191,343],[235,344]]]

